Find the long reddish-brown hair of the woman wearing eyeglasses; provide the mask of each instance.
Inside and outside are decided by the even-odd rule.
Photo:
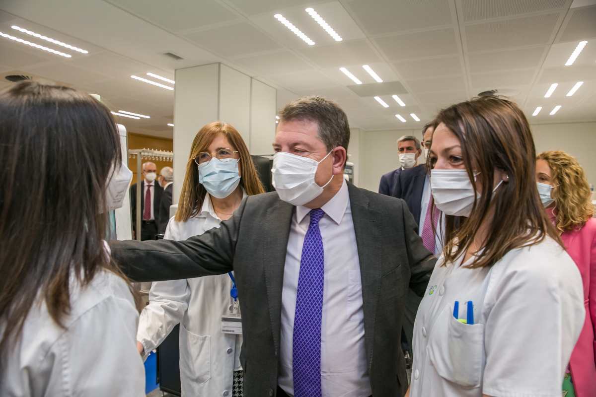
[[[214,121],[204,125],[194,137],[178,202],[178,210],[176,211],[175,220],[177,222],[185,222],[189,218],[197,216],[201,211],[201,207],[203,207],[207,190],[198,182],[198,168],[194,158],[201,152],[208,152],[209,145],[219,134],[224,134],[229,143],[234,146],[230,149],[237,150],[240,155],[240,186],[244,187],[246,194],[251,196],[265,192],[259,174],[254,168],[249,149],[246,147],[240,133],[231,124]]]

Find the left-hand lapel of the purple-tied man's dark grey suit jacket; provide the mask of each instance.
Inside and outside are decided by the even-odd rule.
[[[279,200],[267,210],[263,229],[265,229],[265,246],[263,246],[263,265],[271,330],[275,343],[275,355],[280,352],[281,333],[281,290],[284,284],[284,265],[294,206]]]

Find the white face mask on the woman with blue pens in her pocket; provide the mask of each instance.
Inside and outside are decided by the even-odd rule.
[[[502,182],[495,186],[493,193]],[[470,216],[477,193],[466,170],[430,170],[430,189],[434,204],[445,215]]]

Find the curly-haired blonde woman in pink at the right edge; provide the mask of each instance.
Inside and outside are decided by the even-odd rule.
[[[586,320],[563,382],[567,397],[596,397],[596,219],[583,168],[565,152],[542,152],[536,182],[543,204],[561,233],[583,280]],[[567,392],[567,393],[566,393]]]

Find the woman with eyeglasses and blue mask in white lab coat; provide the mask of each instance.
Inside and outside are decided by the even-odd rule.
[[[263,193],[246,143],[230,124],[195,136],[175,217],[164,238],[185,240],[219,227],[248,195]],[[234,274],[156,282],[141,312],[137,347],[146,357],[180,324],[182,396],[241,396],[242,335]]]

